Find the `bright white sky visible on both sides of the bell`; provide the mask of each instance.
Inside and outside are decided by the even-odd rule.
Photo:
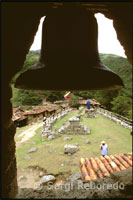
[[[117,40],[115,29],[113,28],[113,20],[105,18],[103,14],[95,14],[98,22],[98,48],[99,53],[115,54],[125,57],[124,49]],[[45,17],[40,20],[38,32],[34,38],[34,42],[30,50],[41,49],[42,23]]]

